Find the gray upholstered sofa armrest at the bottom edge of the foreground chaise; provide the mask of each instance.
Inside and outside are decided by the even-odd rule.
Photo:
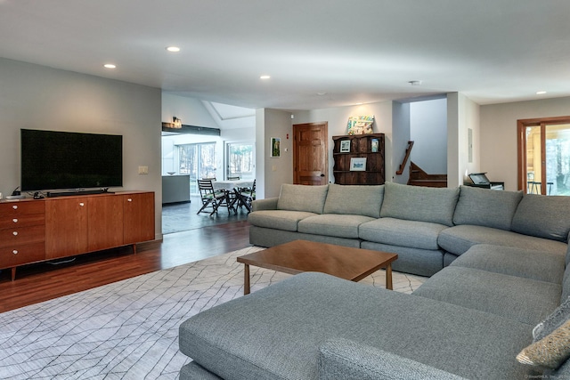
[[[332,339],[319,347],[319,379],[434,379],[463,377],[365,344]]]

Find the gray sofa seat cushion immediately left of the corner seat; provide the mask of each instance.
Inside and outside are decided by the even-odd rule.
[[[360,239],[392,246],[420,249],[439,249],[437,237],[448,227],[432,222],[406,221],[380,218],[363,223],[359,228]]]

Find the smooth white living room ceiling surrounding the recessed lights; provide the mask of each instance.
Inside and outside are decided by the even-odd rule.
[[[569,15],[568,0],[0,0],[0,57],[251,109],[492,104],[570,96]]]

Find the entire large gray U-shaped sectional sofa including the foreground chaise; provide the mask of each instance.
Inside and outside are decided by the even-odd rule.
[[[570,378],[568,341],[556,368],[516,360],[570,318],[570,198],[283,185],[249,221],[256,245],[386,250],[431,278],[405,295],[302,273],[203,311],[180,327],[181,379]]]

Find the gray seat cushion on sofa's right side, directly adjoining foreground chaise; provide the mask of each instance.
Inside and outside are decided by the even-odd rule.
[[[559,284],[551,282],[449,266],[412,295],[490,312],[534,327],[558,307],[561,290]]]

